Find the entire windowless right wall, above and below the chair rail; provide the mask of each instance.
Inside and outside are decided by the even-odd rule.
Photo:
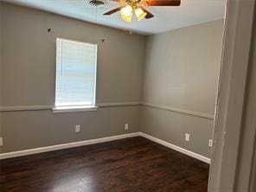
[[[221,64],[223,20],[207,22],[147,39],[141,131],[209,157]],[[185,133],[190,142],[185,142]]]

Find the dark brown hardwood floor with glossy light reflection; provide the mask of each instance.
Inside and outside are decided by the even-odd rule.
[[[0,161],[1,192],[206,192],[208,164],[145,138]]]

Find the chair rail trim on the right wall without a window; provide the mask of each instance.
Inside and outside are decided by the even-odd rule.
[[[178,112],[178,113],[191,115],[191,116],[195,116],[195,117],[199,117],[199,118],[214,119],[214,115],[203,113],[203,112],[189,111],[189,110],[174,108],[174,107],[170,107],[170,106],[159,106],[159,105],[155,105],[155,104],[151,104],[151,103],[147,103],[147,102],[142,103],[142,105],[150,106],[153,108],[162,109],[162,110],[170,111],[170,112]]]

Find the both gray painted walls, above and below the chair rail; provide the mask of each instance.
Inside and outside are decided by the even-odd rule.
[[[146,38],[40,10],[8,3],[1,6],[0,69],[4,73],[0,106],[54,105],[55,39],[60,36],[98,43],[97,103],[143,99],[178,111],[214,114],[222,21]],[[124,131],[125,123],[130,124],[129,131]],[[74,132],[74,125],[82,126],[80,133]],[[213,119],[150,106],[99,107],[96,112],[0,112],[0,150],[25,150],[144,131],[209,157],[212,126]],[[184,141],[185,132],[191,134],[189,143]]]

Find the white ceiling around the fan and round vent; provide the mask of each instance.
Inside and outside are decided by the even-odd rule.
[[[86,22],[97,22],[106,26],[131,30],[142,34],[156,34],[224,17],[225,0],[181,0],[179,7],[148,7],[155,16],[149,20],[131,23],[123,22],[119,13],[103,16],[107,10],[118,7],[108,1],[106,7],[91,7],[86,0],[3,0],[40,10],[47,10],[63,16],[70,16]]]

